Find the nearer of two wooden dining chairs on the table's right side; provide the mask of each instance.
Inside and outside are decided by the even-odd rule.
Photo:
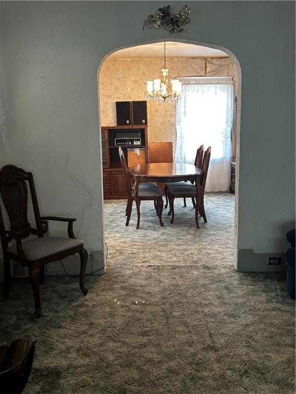
[[[199,204],[198,201],[196,201],[195,204],[195,220],[196,220],[196,226],[198,226],[198,211],[200,212],[202,218],[204,219],[205,222],[207,222],[207,216],[205,212],[205,206],[204,206],[204,195],[205,195],[205,188],[206,188],[206,182],[207,182],[207,175],[208,175],[208,170],[209,170],[209,164],[210,164],[210,158],[211,158],[211,147],[206,150],[204,159],[202,160],[202,165],[201,169],[203,171],[203,174],[201,176],[200,180],[200,200]],[[169,193],[169,204],[170,204],[170,211],[169,215],[172,214],[172,219],[171,223],[174,222],[174,200],[176,198],[184,198],[184,197],[189,197],[189,198],[195,198],[196,197],[196,185],[193,185],[191,182],[188,182],[188,185],[184,185],[181,182],[181,185],[173,185],[168,187],[168,193]]]

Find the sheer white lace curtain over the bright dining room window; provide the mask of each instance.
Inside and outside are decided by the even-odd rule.
[[[206,191],[229,190],[232,112],[231,77],[182,80],[176,107],[175,161],[193,164],[197,148],[211,146]]]

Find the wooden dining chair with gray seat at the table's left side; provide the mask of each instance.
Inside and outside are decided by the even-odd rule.
[[[123,150],[121,149],[121,147],[118,148],[118,151],[119,151],[120,161],[121,161],[122,168],[123,168],[123,174],[124,174],[124,179],[125,179],[125,183],[126,183],[126,190],[127,190],[127,204],[126,204],[127,218],[126,218],[125,226],[128,226],[128,224],[130,223],[130,219],[131,219],[133,202],[136,201],[135,184],[133,183],[133,178],[132,178],[130,172],[128,172],[128,167],[126,164],[125,156],[124,156],[124,153],[123,153]],[[160,225],[163,226],[163,223],[161,221],[162,210],[163,210],[162,192],[156,183],[143,182],[143,183],[139,184],[139,201],[141,202],[142,200],[154,201],[154,207],[155,207],[156,213],[159,217]],[[140,212],[139,212],[138,207],[137,207],[137,211],[138,211],[137,229],[139,229]]]

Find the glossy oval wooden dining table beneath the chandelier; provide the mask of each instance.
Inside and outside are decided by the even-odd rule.
[[[146,163],[137,164],[128,169],[135,177],[135,201],[138,213],[137,229],[140,226],[140,200],[139,200],[139,183],[140,182],[181,182],[191,181],[196,184],[196,204],[195,204],[195,222],[198,223],[198,209],[200,200],[200,178],[204,171],[193,164],[187,163]]]

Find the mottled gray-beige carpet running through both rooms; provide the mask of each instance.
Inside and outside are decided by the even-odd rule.
[[[1,343],[38,339],[24,394],[294,393],[284,275],[237,273],[234,196],[207,194],[205,206],[198,230],[189,201],[174,224],[164,210],[163,227],[142,202],[136,230],[135,210],[125,227],[125,202],[106,202],[106,273],[86,278],[85,297],[77,279],[47,277],[39,320],[29,280],[13,280]]]

